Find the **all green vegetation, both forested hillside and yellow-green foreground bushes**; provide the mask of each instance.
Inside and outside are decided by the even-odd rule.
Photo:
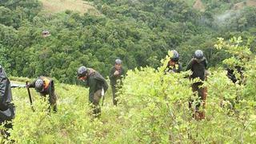
[[[255,142],[255,7],[232,10],[241,1],[202,1],[201,12],[192,1],[93,2],[100,14],[52,14],[36,0],[0,2],[0,64],[15,81],[54,78],[58,94],[58,113],[48,114],[35,91],[33,112],[26,89],[14,89],[17,114],[10,138],[17,143]],[[50,36],[43,38],[42,30]],[[198,49],[210,63],[205,120],[191,116],[187,73],[163,75],[172,49],[184,67]],[[82,65],[108,75],[115,58],[129,69],[120,104],[112,106],[108,90],[102,116],[94,119],[88,90],[69,84],[79,83],[75,72]],[[245,81],[231,82],[224,65],[244,67]]]

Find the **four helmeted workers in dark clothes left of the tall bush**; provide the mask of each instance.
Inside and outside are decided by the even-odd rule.
[[[108,84],[106,79],[102,77],[98,71],[92,68],[86,68],[86,66],[81,66],[78,68],[77,76],[79,80],[85,82],[85,86],[89,87],[89,102],[92,106],[92,113],[94,117],[99,117],[101,114],[101,109],[99,106],[100,99],[106,90],[108,89]],[[110,70],[110,85],[112,87],[113,103],[117,106],[117,92],[122,86],[122,78],[125,75],[125,70],[122,68],[122,60],[116,59],[114,66]],[[55,93],[54,80],[45,76],[40,76],[36,78],[33,82],[27,83],[26,88],[34,88],[42,97],[46,98],[48,95],[48,102],[50,104],[49,110],[57,112],[57,95]],[[7,78],[4,68],[0,65],[0,123],[4,124],[6,128],[11,128],[12,124],[10,121],[15,115],[15,106],[12,103],[12,93],[10,79]],[[6,134],[6,130],[2,133]]]

